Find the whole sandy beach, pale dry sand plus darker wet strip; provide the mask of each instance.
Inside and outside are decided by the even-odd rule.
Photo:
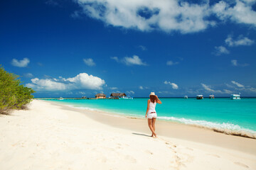
[[[256,169],[256,140],[53,102],[0,115],[0,169]]]

